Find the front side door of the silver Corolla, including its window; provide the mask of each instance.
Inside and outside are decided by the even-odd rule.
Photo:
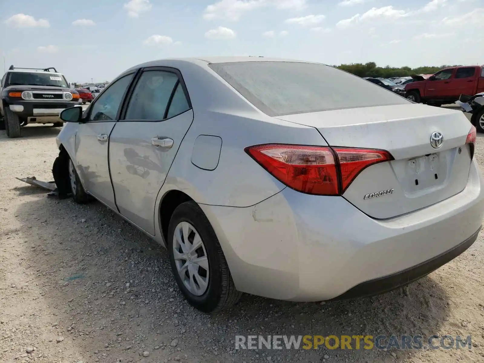
[[[76,168],[84,188],[108,207],[116,210],[109,177],[108,140],[123,97],[133,74],[109,85],[106,92],[89,108],[87,121],[80,123],[76,134]]]

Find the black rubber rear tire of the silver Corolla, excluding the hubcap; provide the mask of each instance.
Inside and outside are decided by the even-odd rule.
[[[175,229],[181,222],[188,222],[197,230],[208,258],[208,286],[206,291],[200,296],[191,293],[185,287],[175,264],[173,238]],[[175,209],[170,219],[167,240],[173,275],[181,293],[190,305],[204,313],[213,313],[227,309],[239,301],[242,293],[235,288],[227,266],[227,260],[225,259],[217,236],[209,220],[197,203],[194,201],[184,202]]]

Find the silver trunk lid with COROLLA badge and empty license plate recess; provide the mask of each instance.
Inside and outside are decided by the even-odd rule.
[[[371,217],[392,218],[422,209],[467,185],[471,154],[465,142],[471,125],[460,111],[410,104],[278,118],[315,127],[331,146],[392,154],[394,160],[367,167],[343,193]],[[438,148],[431,145],[435,132],[443,136]]]

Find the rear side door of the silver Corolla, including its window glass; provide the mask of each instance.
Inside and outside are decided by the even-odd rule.
[[[170,68],[145,69],[127,105],[124,120],[109,138],[116,205],[124,217],[154,235],[156,197],[193,111],[181,75]]]

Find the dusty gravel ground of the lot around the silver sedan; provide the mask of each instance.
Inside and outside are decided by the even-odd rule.
[[[209,316],[182,298],[165,249],[100,203],[46,197],[59,128],[0,132],[0,362],[484,362],[483,233],[408,287],[344,302],[244,295]],[[476,159],[484,168],[484,139]],[[236,334],[472,336],[466,349],[235,350]]]

